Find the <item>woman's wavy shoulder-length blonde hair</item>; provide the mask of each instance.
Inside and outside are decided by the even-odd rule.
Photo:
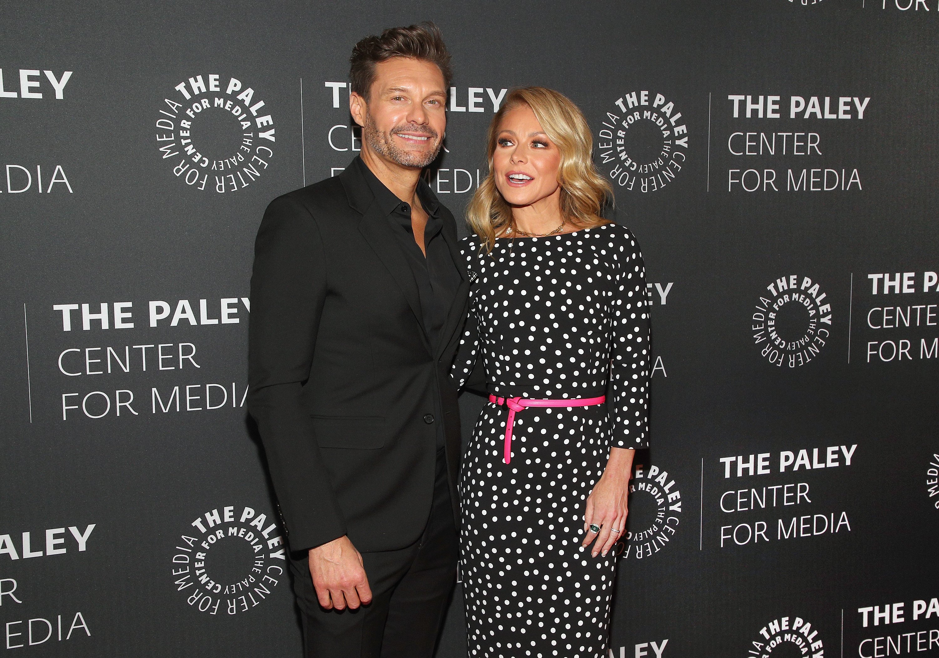
[[[492,154],[499,139],[502,117],[519,105],[528,105],[548,139],[561,151],[558,182],[561,185],[561,213],[565,222],[578,229],[608,223],[600,210],[613,200],[613,189],[593,165],[593,136],[587,119],[571,99],[562,93],[540,86],[523,87],[509,92],[499,112],[492,117],[486,137],[489,173],[473,194],[467,207],[467,222],[479,236],[485,252],[492,252],[496,237],[512,221],[512,207],[496,187]]]

